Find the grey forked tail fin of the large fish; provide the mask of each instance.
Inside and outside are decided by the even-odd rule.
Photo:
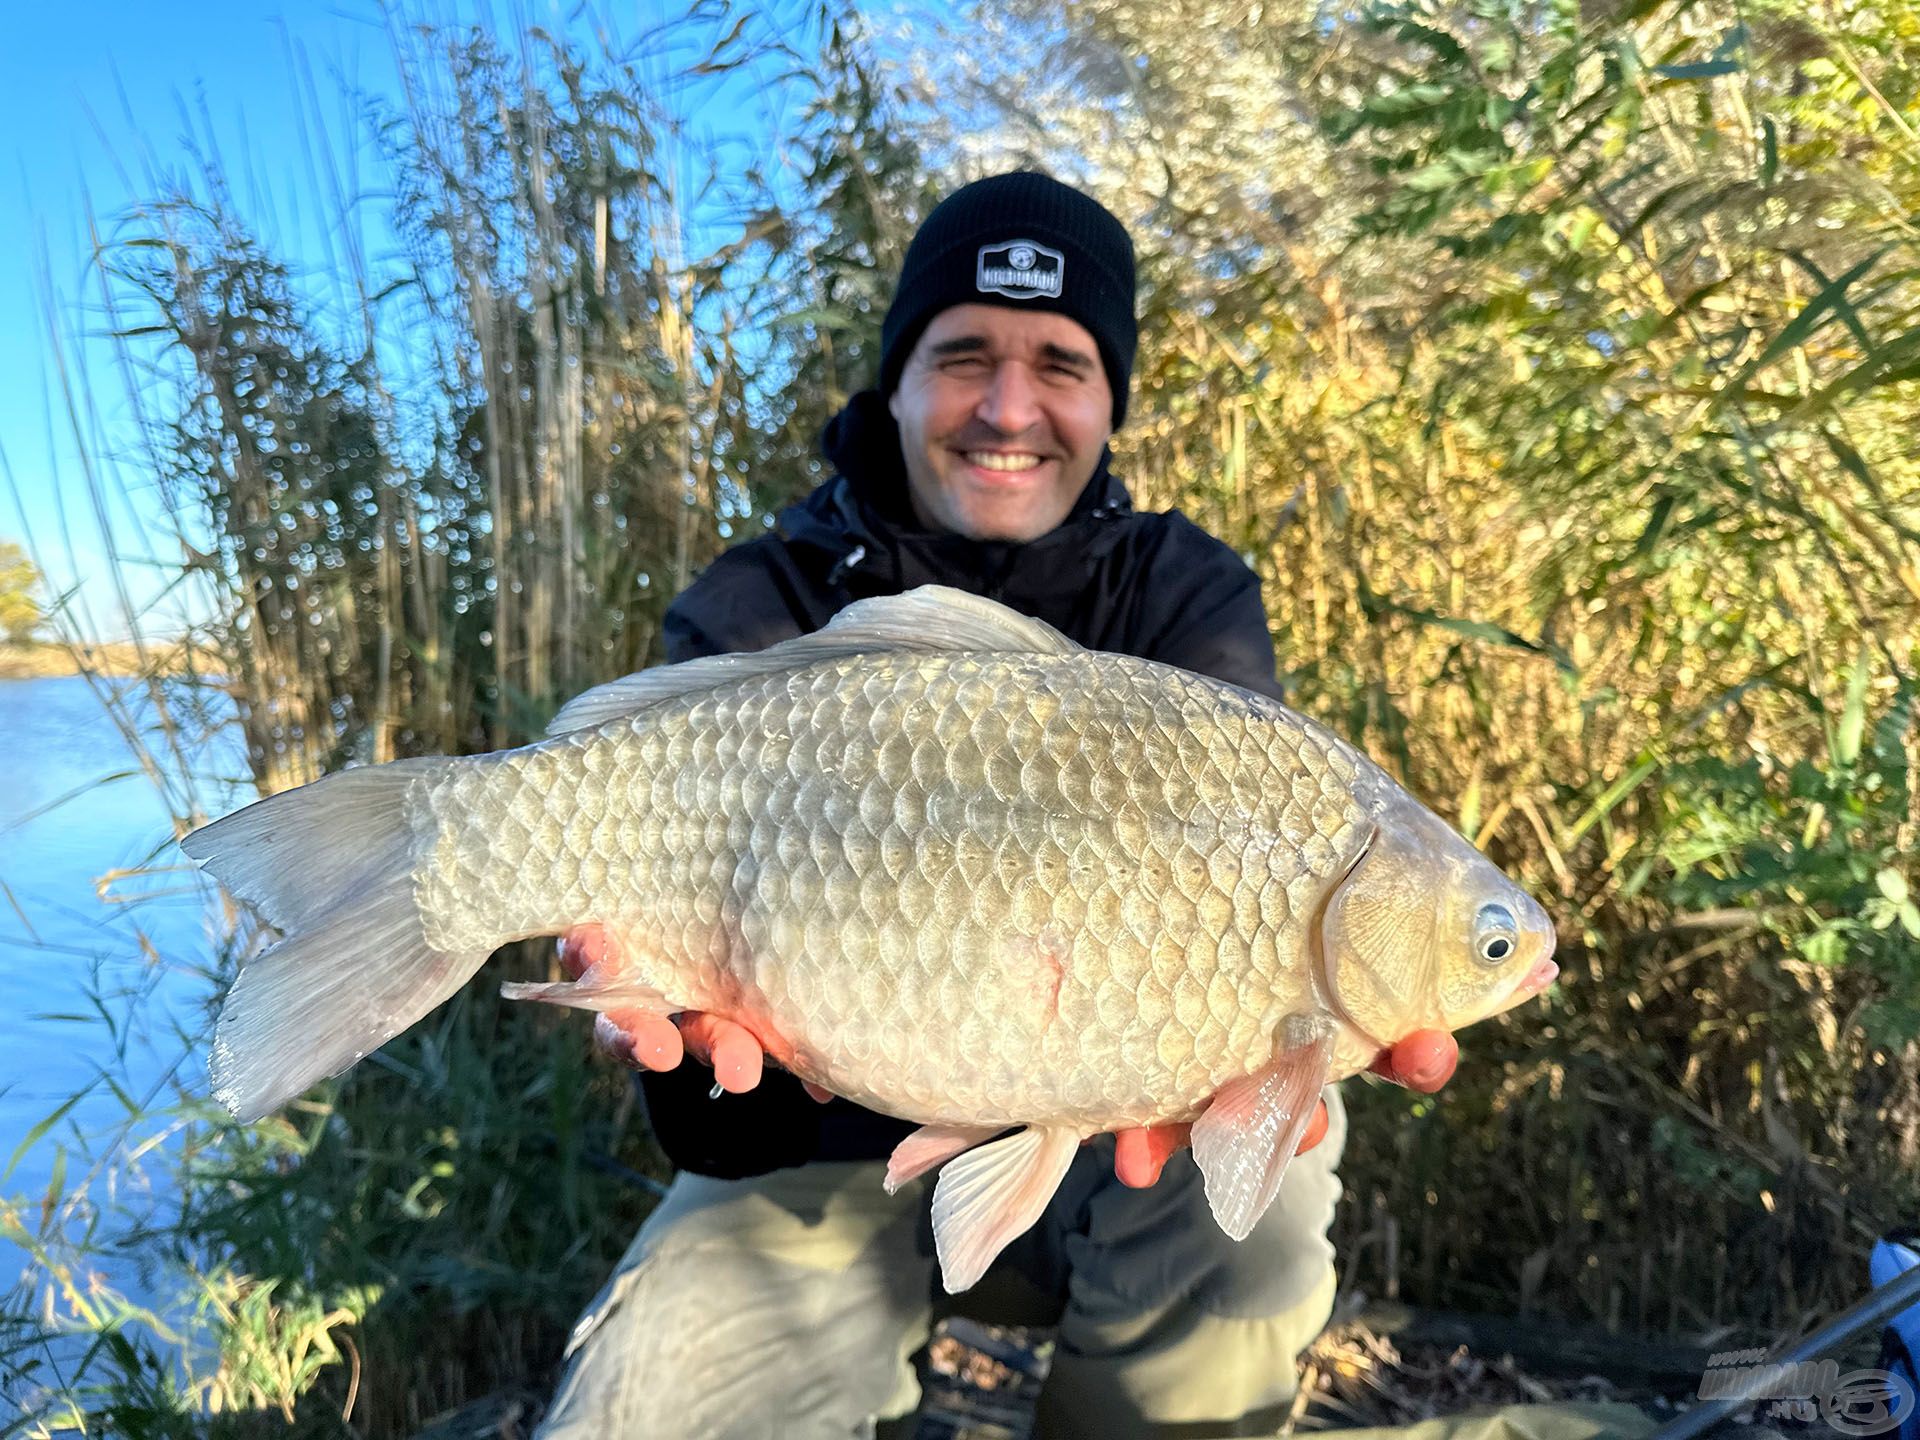
[[[409,801],[455,760],[342,770],[180,841],[284,939],[248,960],[213,1031],[213,1094],[253,1121],[457,991],[488,952],[426,943]]]

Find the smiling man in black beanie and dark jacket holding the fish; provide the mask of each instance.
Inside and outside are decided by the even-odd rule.
[[[1256,576],[1179,515],[1139,515],[1106,442],[1127,413],[1133,244],[1043,175],[964,186],[908,248],[876,390],[828,426],[835,478],[674,603],[668,657],[762,649],[868,595],[947,584],[1083,645],[1275,691]],[[611,941],[582,933],[576,968]],[[914,1127],[762,1071],[714,1016],[603,1016],[643,1069],[680,1167],[576,1329],[543,1427],[564,1436],[854,1436],[912,1411],[931,1321],[931,1181],[889,1196]],[[710,1064],[680,1064],[684,1048]],[[1438,1089],[1452,1041],[1382,1056]],[[718,1081],[718,1085],[716,1085]],[[1338,1096],[1240,1244],[1213,1223],[1187,1127],[1085,1146],[1046,1213],[960,1300],[1058,1325],[1044,1436],[1271,1430],[1334,1294],[1325,1238]],[[1313,1146],[1313,1148],[1306,1148]]]

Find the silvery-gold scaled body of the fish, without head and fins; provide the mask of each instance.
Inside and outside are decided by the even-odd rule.
[[[424,795],[445,950],[597,920],[676,1004],[948,1123],[1190,1116],[1308,1004],[1371,766],[1127,657],[893,653],[461,762]]]

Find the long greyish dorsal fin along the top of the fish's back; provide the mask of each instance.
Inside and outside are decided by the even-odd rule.
[[[904,595],[854,601],[824,630],[783,639],[747,655],[707,655],[699,660],[662,664],[622,676],[576,695],[547,726],[549,735],[591,730],[622,714],[670,701],[697,689],[776,670],[799,670],[820,660],[877,651],[1000,651],[1020,655],[1071,655],[1073,643],[1044,620],[1010,611],[991,599],[948,586],[920,586]]]

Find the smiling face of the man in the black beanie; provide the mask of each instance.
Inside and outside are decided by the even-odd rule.
[[[1056,528],[1114,434],[1114,392],[1087,328],[1006,305],[935,315],[887,409],[914,515],[973,540]]]

